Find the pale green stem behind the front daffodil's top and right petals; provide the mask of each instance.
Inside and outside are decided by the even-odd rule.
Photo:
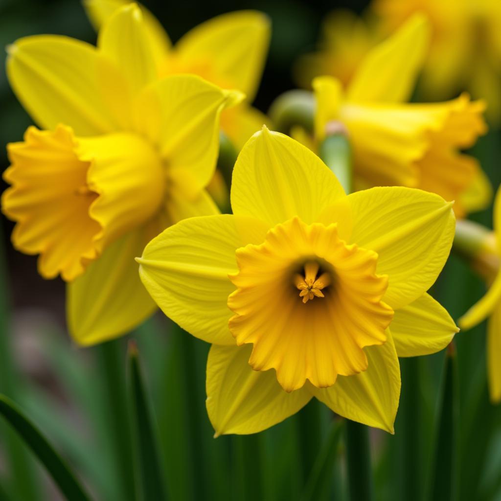
[[[319,147],[320,158],[336,174],[346,193],[353,190],[351,150],[343,132],[328,135]]]

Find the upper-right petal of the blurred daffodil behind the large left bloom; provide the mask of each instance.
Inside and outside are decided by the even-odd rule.
[[[261,80],[270,34],[265,14],[232,12],[193,28],[177,42],[175,51],[185,65],[205,63],[216,78],[213,83],[242,91],[250,102]]]

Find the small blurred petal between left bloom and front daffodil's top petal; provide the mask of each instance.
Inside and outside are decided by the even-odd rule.
[[[240,151],[249,138],[260,131],[263,125],[269,125],[270,119],[256,108],[242,103],[224,110],[221,114],[221,129]]]

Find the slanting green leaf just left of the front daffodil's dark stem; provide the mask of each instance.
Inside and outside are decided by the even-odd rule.
[[[302,495],[304,501],[328,498],[343,425],[344,422],[340,419],[332,422],[327,440],[320,450],[306,482]]]

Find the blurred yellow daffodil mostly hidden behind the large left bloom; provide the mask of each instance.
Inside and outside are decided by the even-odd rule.
[[[85,0],[89,18],[99,28],[127,0]],[[257,11],[217,16],[186,33],[174,46],[158,20],[143,6],[159,76],[191,73],[225,89],[238,89],[245,102],[221,115],[221,127],[240,149],[269,120],[251,107],[270,43],[270,21]]]

